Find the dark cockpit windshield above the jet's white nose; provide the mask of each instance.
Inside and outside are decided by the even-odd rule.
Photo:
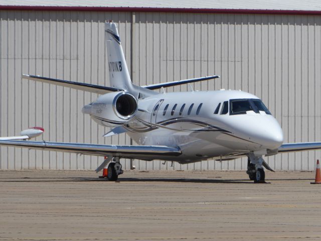
[[[246,111],[271,114],[260,99],[230,99],[230,114],[246,114]]]

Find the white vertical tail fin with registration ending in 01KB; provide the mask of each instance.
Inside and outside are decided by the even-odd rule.
[[[111,86],[130,90],[132,83],[115,23],[105,23],[105,41]]]

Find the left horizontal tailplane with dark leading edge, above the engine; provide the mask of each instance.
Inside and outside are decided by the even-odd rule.
[[[88,92],[97,93],[97,94],[106,94],[109,92],[123,90],[123,89],[117,89],[117,88],[112,88],[112,87],[105,87],[105,86],[101,86],[101,85],[72,82],[72,81],[67,81],[67,80],[62,80],[62,79],[52,79],[52,78],[35,76],[35,75],[28,75],[28,74],[23,74],[22,78],[40,81],[40,82],[48,83],[48,84],[55,84],[55,85],[69,87],[69,88],[83,90],[83,91],[88,91]]]

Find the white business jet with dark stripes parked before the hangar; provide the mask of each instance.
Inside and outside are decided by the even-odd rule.
[[[29,139],[26,135],[21,136],[21,141],[17,140],[19,137],[3,138],[0,145],[106,156],[96,171],[109,163],[109,180],[117,180],[122,174],[120,158],[187,164],[247,156],[247,174],[254,182],[264,182],[264,167],[273,171],[263,156],[321,149],[321,142],[282,145],[280,125],[262,100],[253,94],[224,89],[179,93],[153,91],[219,76],[136,86],[130,80],[115,23],[105,24],[105,41],[111,87],[33,75],[23,75],[23,78],[100,94],[95,101],[85,105],[82,112],[98,125],[111,128],[104,137],[126,133],[139,145],[24,141]]]

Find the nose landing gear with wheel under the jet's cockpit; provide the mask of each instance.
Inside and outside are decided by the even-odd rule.
[[[247,158],[247,171],[250,180],[254,183],[266,183],[264,168],[274,172],[267,163],[263,160],[262,156],[255,156],[254,153],[250,153]]]

